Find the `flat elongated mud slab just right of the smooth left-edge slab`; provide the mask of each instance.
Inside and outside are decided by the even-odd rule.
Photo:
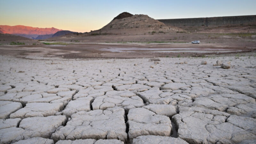
[[[27,118],[36,116],[53,116],[63,109],[63,103],[33,102],[27,103],[26,107],[17,110],[10,118]]]

